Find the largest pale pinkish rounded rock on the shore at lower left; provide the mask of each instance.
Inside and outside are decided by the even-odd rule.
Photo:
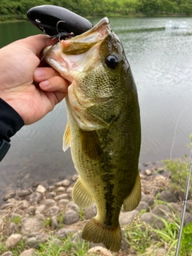
[[[22,234],[31,234],[42,230],[42,220],[38,218],[26,218],[22,224]]]

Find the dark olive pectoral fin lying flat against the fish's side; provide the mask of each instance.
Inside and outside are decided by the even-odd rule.
[[[90,159],[97,160],[102,154],[102,149],[96,131],[80,129],[80,138],[84,154]]]

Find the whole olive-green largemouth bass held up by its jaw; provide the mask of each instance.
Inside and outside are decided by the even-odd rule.
[[[73,200],[97,206],[82,238],[121,248],[120,210],[134,210],[141,198],[138,94],[122,43],[103,18],[91,30],[63,40],[46,62],[71,82],[63,149],[71,148],[79,178]]]

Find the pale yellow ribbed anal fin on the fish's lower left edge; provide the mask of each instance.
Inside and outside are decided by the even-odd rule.
[[[90,193],[86,190],[82,183],[82,179],[79,177],[77,182],[74,184],[74,190],[72,193],[74,202],[81,208],[88,208],[94,203]]]

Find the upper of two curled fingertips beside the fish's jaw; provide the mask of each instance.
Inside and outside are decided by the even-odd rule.
[[[34,70],[35,82],[42,82],[55,76],[59,76],[58,71],[51,67],[37,67]]]

